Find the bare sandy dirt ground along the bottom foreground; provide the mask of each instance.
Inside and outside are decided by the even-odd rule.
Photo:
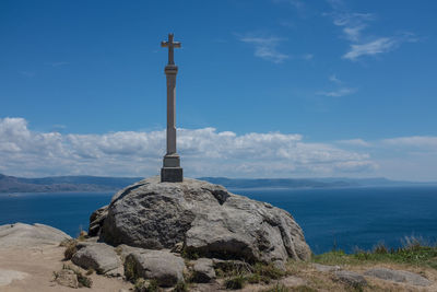
[[[70,261],[63,261],[64,247],[45,246],[37,248],[3,248],[0,249],[0,292],[50,292],[50,291],[102,291],[119,292],[129,291],[132,284],[122,279],[107,278],[95,273],[90,277],[93,280],[92,288],[67,288],[59,285],[54,281],[54,272],[60,271],[64,264],[72,265]],[[371,277],[365,277],[368,285],[362,291],[429,291],[437,292],[437,270],[425,267],[412,267],[406,265],[378,264],[363,266],[345,266],[344,270],[362,273],[374,267],[385,267],[398,270],[408,270],[418,273],[434,284],[430,287],[414,287],[405,283],[394,283],[379,280]],[[78,268],[79,269],[79,268]],[[291,288],[291,291],[357,291],[345,283],[340,282],[333,273],[318,271],[311,262],[295,262],[288,265],[290,276],[281,280],[274,280],[271,284],[247,284],[243,290],[267,291],[275,285]],[[224,279],[210,284],[190,284],[190,291],[225,291],[223,289]],[[300,290],[300,289],[312,290]],[[169,290],[168,290],[169,291]],[[229,291],[229,290],[228,290]],[[274,291],[274,290],[272,290]]]

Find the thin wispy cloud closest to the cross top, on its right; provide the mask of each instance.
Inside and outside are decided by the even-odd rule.
[[[253,55],[264,60],[272,61],[274,63],[281,63],[290,58],[288,55],[282,54],[277,50],[279,44],[285,40],[284,38],[274,36],[244,36],[239,37],[239,40],[253,45]]]

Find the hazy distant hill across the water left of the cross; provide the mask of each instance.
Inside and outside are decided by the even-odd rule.
[[[54,176],[23,178],[0,174],[0,192],[114,191],[142,177]]]

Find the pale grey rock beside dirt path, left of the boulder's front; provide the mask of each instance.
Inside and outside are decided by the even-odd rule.
[[[78,245],[78,253],[71,258],[75,265],[84,269],[94,269],[97,273],[107,273],[121,267],[121,260],[113,246],[104,243],[86,243]]]

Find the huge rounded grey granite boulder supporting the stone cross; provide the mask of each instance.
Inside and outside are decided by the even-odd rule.
[[[288,212],[197,179],[143,179],[117,192],[91,219],[90,229],[111,245],[162,249],[184,243],[187,254],[249,262],[310,256]]]

